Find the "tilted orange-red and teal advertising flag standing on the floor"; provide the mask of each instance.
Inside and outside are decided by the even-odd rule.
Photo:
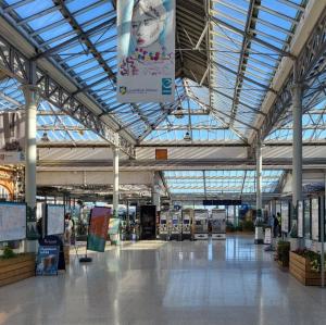
[[[111,209],[95,207],[91,210],[87,237],[87,249],[98,252],[105,250]]]

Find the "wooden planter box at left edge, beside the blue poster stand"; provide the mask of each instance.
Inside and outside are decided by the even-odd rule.
[[[35,276],[35,254],[0,260],[0,287]]]

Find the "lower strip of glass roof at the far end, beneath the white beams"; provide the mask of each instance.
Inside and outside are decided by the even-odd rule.
[[[275,192],[283,171],[264,170],[263,192]],[[254,193],[255,171],[168,171],[164,172],[172,195]]]

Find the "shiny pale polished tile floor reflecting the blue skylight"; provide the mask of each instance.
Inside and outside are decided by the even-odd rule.
[[[0,288],[0,324],[326,324],[326,290],[303,287],[250,237],[110,248],[66,275]]]

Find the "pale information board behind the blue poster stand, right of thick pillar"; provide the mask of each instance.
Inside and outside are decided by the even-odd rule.
[[[64,233],[64,205],[47,204],[46,234],[62,235]]]

